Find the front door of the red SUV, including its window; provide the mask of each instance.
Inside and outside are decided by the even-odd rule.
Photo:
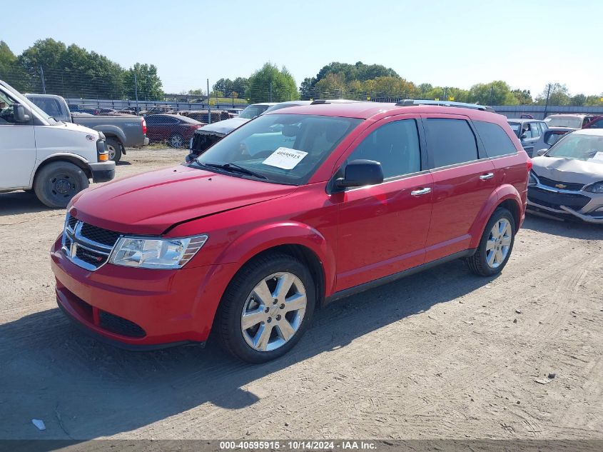
[[[378,161],[385,180],[333,194],[339,219],[338,291],[425,261],[433,185],[424,169],[418,121],[402,115],[371,126],[340,165],[343,174],[348,161]]]

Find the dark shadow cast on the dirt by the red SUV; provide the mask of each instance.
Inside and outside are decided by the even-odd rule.
[[[122,351],[86,336],[58,308],[24,316],[0,326],[0,438],[39,438],[31,418],[46,422],[45,438],[88,439],[147,426],[203,403],[248,407],[259,400],[245,390],[249,383],[450,303],[492,279],[473,276],[465,263],[454,261],[343,298],[316,311],[290,353],[261,365],[230,358],[215,341],[204,349]]]

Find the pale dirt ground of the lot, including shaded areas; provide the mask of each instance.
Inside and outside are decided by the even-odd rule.
[[[184,154],[128,151],[117,176]],[[497,278],[457,261],[345,298],[250,366],[71,326],[49,265],[63,221],[0,194],[0,438],[603,438],[603,226],[528,216]]]

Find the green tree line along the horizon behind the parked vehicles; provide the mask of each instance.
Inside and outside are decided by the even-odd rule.
[[[65,97],[96,99],[161,100],[167,96],[153,64],[136,63],[125,69],[106,56],[75,44],[66,46],[54,39],[39,40],[20,55],[0,41],[0,79],[19,91],[61,94]],[[44,82],[43,82],[44,81]],[[559,83],[544,86],[532,94],[512,89],[502,80],[479,83],[462,89],[408,81],[381,64],[333,62],[313,77],[303,79],[299,88],[288,69],[265,63],[248,77],[219,79],[210,97],[244,99],[249,102],[295,99],[347,98],[358,100],[440,99],[487,105],[603,106],[603,94],[570,94]],[[180,94],[207,96],[203,89]]]

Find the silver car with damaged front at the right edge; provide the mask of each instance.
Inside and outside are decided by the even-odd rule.
[[[532,159],[527,206],[603,224],[603,129],[582,129]]]

